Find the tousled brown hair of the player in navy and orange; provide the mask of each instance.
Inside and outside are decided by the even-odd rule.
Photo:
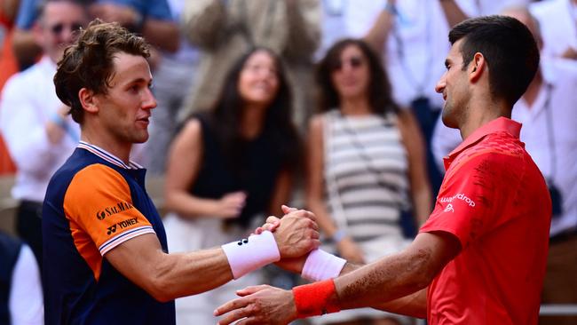
[[[150,56],[149,45],[144,38],[136,36],[116,22],[105,23],[92,20],[83,29],[75,44],[67,47],[58,62],[54,85],[56,94],[70,107],[76,123],[83,123],[83,106],[78,91],[83,88],[95,94],[106,94],[114,76],[115,54]]]

